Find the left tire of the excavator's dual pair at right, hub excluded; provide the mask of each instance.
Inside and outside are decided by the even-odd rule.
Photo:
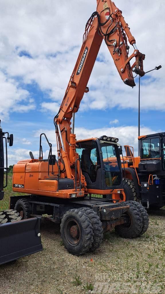
[[[122,206],[129,206],[129,210],[126,211],[124,214],[129,216],[131,219],[130,225],[122,224],[117,225],[115,227],[115,231],[122,237],[122,238],[137,238],[141,235],[142,232],[142,218],[140,216],[138,208],[130,202],[134,201],[126,201],[122,202]]]

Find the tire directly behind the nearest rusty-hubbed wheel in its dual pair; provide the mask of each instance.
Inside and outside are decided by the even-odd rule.
[[[83,207],[81,208],[81,210],[86,213],[86,215],[92,222],[94,236],[93,236],[93,243],[92,243],[92,247],[90,248],[90,251],[93,252],[97,248],[99,248],[102,243],[102,239],[103,239],[102,223],[99,216],[93,209]]]

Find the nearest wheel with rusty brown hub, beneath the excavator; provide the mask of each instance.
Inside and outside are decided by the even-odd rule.
[[[80,209],[70,209],[64,214],[60,232],[66,249],[73,255],[83,255],[92,247],[92,223]]]

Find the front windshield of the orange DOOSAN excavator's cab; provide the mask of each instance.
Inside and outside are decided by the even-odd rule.
[[[121,184],[121,171],[117,160],[117,146],[110,143],[100,143],[105,168],[105,183],[107,187]]]

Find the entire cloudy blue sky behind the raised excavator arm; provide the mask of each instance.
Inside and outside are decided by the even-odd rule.
[[[143,8],[140,0],[127,0],[128,6],[122,0],[115,4],[123,11],[139,50],[146,54],[144,70],[162,65],[141,79],[141,134],[164,131],[164,39],[159,41],[164,35],[164,1],[155,6],[155,1],[147,0]],[[84,5],[88,7],[85,11]],[[14,134],[9,164],[29,158],[30,150],[38,157],[43,131],[55,152],[53,118],[78,57],[86,21],[95,9],[95,0],[64,0],[60,5],[53,0],[2,3],[0,119],[4,131]],[[153,14],[157,13],[160,17],[155,26]],[[139,22],[134,21],[137,14],[141,15]],[[158,41],[152,42],[153,38]],[[137,78],[135,82],[133,89],[122,82],[103,43],[88,83],[90,92],[76,114],[77,138],[116,136],[122,145],[129,143],[137,152]],[[46,145],[44,148],[47,154]]]

